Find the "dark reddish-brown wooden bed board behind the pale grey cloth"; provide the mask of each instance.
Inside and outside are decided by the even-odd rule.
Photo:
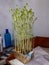
[[[49,48],[49,37],[35,37],[34,47],[36,46]]]

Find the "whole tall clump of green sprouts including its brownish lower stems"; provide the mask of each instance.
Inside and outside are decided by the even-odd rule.
[[[27,6],[28,3],[22,9],[19,7],[11,9],[14,25],[15,51],[18,53],[17,57],[20,54],[24,58],[25,55],[25,59],[26,54],[33,50],[31,38],[34,38],[34,34],[31,31],[36,20],[33,10],[27,9]],[[18,59],[23,61],[20,56]]]

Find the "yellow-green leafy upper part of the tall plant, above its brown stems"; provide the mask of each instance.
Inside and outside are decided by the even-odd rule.
[[[32,9],[28,10],[27,5],[26,3],[23,9],[19,7],[11,9],[17,39],[27,39],[33,36],[31,29],[34,23],[34,12]]]

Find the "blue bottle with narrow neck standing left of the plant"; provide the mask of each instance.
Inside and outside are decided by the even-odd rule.
[[[11,34],[9,33],[8,29],[5,29],[5,34],[4,34],[4,39],[5,39],[5,47],[10,47],[11,46]]]

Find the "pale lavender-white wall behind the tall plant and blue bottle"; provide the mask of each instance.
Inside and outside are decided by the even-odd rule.
[[[8,28],[11,35],[13,34],[9,8],[15,7],[16,4],[22,7],[26,2],[38,18],[34,23],[34,35],[49,37],[49,0],[0,0],[0,33],[4,35],[5,29]]]

